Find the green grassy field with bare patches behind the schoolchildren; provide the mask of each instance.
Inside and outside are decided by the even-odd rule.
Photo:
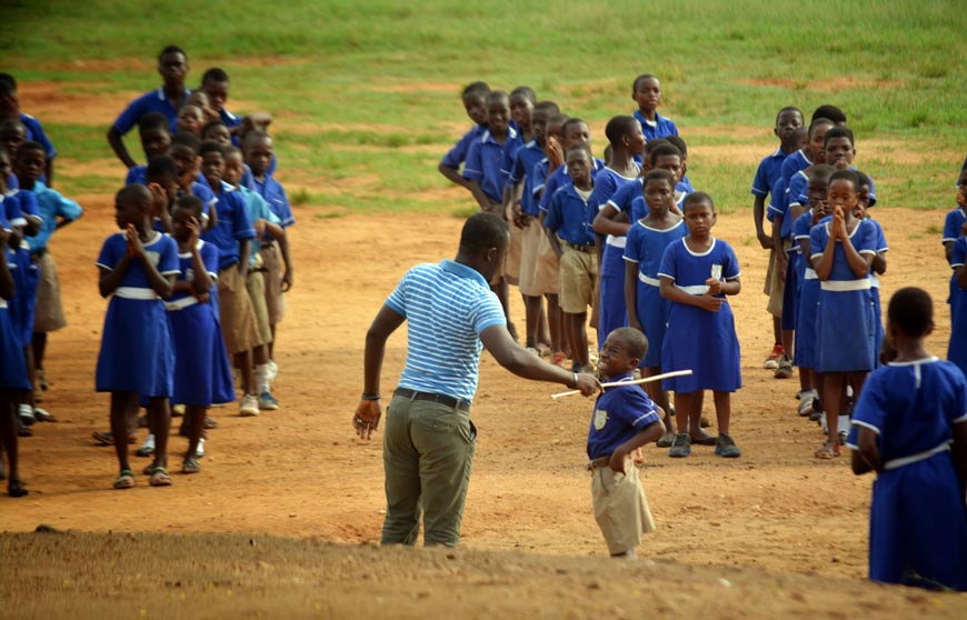
[[[695,184],[727,210],[750,204],[755,167],[775,148],[771,122],[786,104],[847,111],[857,163],[877,179],[883,206],[949,208],[967,144],[967,18],[953,0],[856,1],[835,12],[819,0],[682,0],[648,11],[561,0],[8,4],[4,70],[69,82],[72,92],[117,92],[118,111],[157,86],[153,59],[169,42],[189,51],[190,84],[207,67],[227,69],[232,98],[279,119],[281,177],[319,217],[465,212],[433,190],[447,186],[439,157],[469,122],[460,86],[476,79],[529,84],[601,127],[632,110],[636,74],[657,73],[662,112],[692,149]],[[111,161],[102,123],[47,127],[66,162]],[[592,138],[600,152],[604,136]],[[134,134],[129,148],[139,152]],[[114,184],[62,170],[67,191]]]

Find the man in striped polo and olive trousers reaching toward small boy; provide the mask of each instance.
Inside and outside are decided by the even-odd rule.
[[[423,513],[426,544],[456,546],[470,482],[477,430],[470,403],[486,347],[519,377],[562,383],[591,396],[600,383],[541,361],[510,337],[489,282],[510,242],[507,222],[480,212],[463,224],[453,260],[410,269],[366,334],[365,390],[352,419],[360,438],[379,424],[386,341],[408,321],[406,368],[390,402],[383,440],[386,521],[382,544],[415,544]]]

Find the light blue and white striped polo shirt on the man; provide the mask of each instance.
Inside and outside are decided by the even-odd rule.
[[[504,308],[478,271],[452,260],[418,264],[386,304],[408,322],[407,363],[399,387],[472,401],[484,346],[504,326]]]

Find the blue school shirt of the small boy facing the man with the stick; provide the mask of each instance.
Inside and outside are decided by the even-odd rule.
[[[610,377],[610,381],[630,381],[631,374]],[[588,458],[610,456],[615,450],[661,420],[658,409],[641,386],[620,386],[601,392],[588,429]]]

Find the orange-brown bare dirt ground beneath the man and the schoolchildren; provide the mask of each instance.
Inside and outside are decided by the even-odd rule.
[[[31,112],[43,118],[42,109]],[[451,193],[455,204],[467,200]],[[584,468],[591,402],[552,401],[559,387],[517,379],[486,353],[462,547],[375,547],[380,437],[360,441],[349,423],[362,389],[363,334],[409,267],[452,257],[462,221],[450,214],[313,219],[297,209],[296,286],[276,354],[281,410],[242,419],[235,407],[215,409],[220,428],[199,476],[112,490],[112,450],[96,447],[91,432],[108,421],[107,394],[93,392],[107,307],[93,262],[114,224],[110,197],[76,198],[83,219],[51,243],[70,326],[51,334],[42,407],[60,422],[34,426],[21,441],[30,496],[0,497],[6,617],[967,613],[964,596],[865,581],[873,478],[855,478],[846,457],[814,459],[820,431],[796,416],[797,380],[761,368],[771,348],[766,253],[747,210],[721,216],[715,231],[736,248],[745,283],[732,300],[745,382],[732,401],[732,436],[742,457],[726,461],[698,447],[671,460],[647,449],[642,480],[658,529],[640,549],[647,559],[618,563],[595,524]],[[948,270],[930,232],[943,212],[895,208],[876,217],[890,243],[884,299],[900,286],[927,288],[937,313],[929,344],[944,356]],[[522,327],[519,299],[512,311]],[[388,346],[383,393],[405,353],[401,330]],[[173,463],[186,443],[173,439]],[[70,533],[28,533],[40,524]]]

